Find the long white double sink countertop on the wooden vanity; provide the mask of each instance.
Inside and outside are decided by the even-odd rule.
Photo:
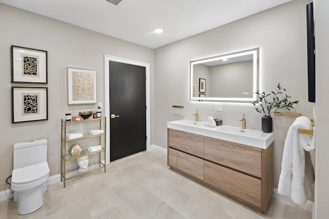
[[[241,129],[235,126],[206,127],[205,122],[193,120],[176,120],[167,123],[167,128],[204,135],[225,141],[266,149],[273,141],[273,133],[255,129]]]

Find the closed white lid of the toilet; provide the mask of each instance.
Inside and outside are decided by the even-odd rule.
[[[39,180],[49,173],[47,162],[35,164],[27,167],[14,169],[12,171],[12,184],[26,184]]]

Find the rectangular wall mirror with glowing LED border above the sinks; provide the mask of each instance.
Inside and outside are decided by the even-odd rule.
[[[190,100],[254,101],[259,88],[259,48],[190,62]]]

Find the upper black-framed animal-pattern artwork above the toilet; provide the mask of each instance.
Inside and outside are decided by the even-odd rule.
[[[47,51],[11,46],[11,83],[48,83]]]

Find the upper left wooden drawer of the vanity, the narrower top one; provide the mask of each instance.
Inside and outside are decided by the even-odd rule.
[[[168,146],[204,157],[204,138],[168,129]]]

